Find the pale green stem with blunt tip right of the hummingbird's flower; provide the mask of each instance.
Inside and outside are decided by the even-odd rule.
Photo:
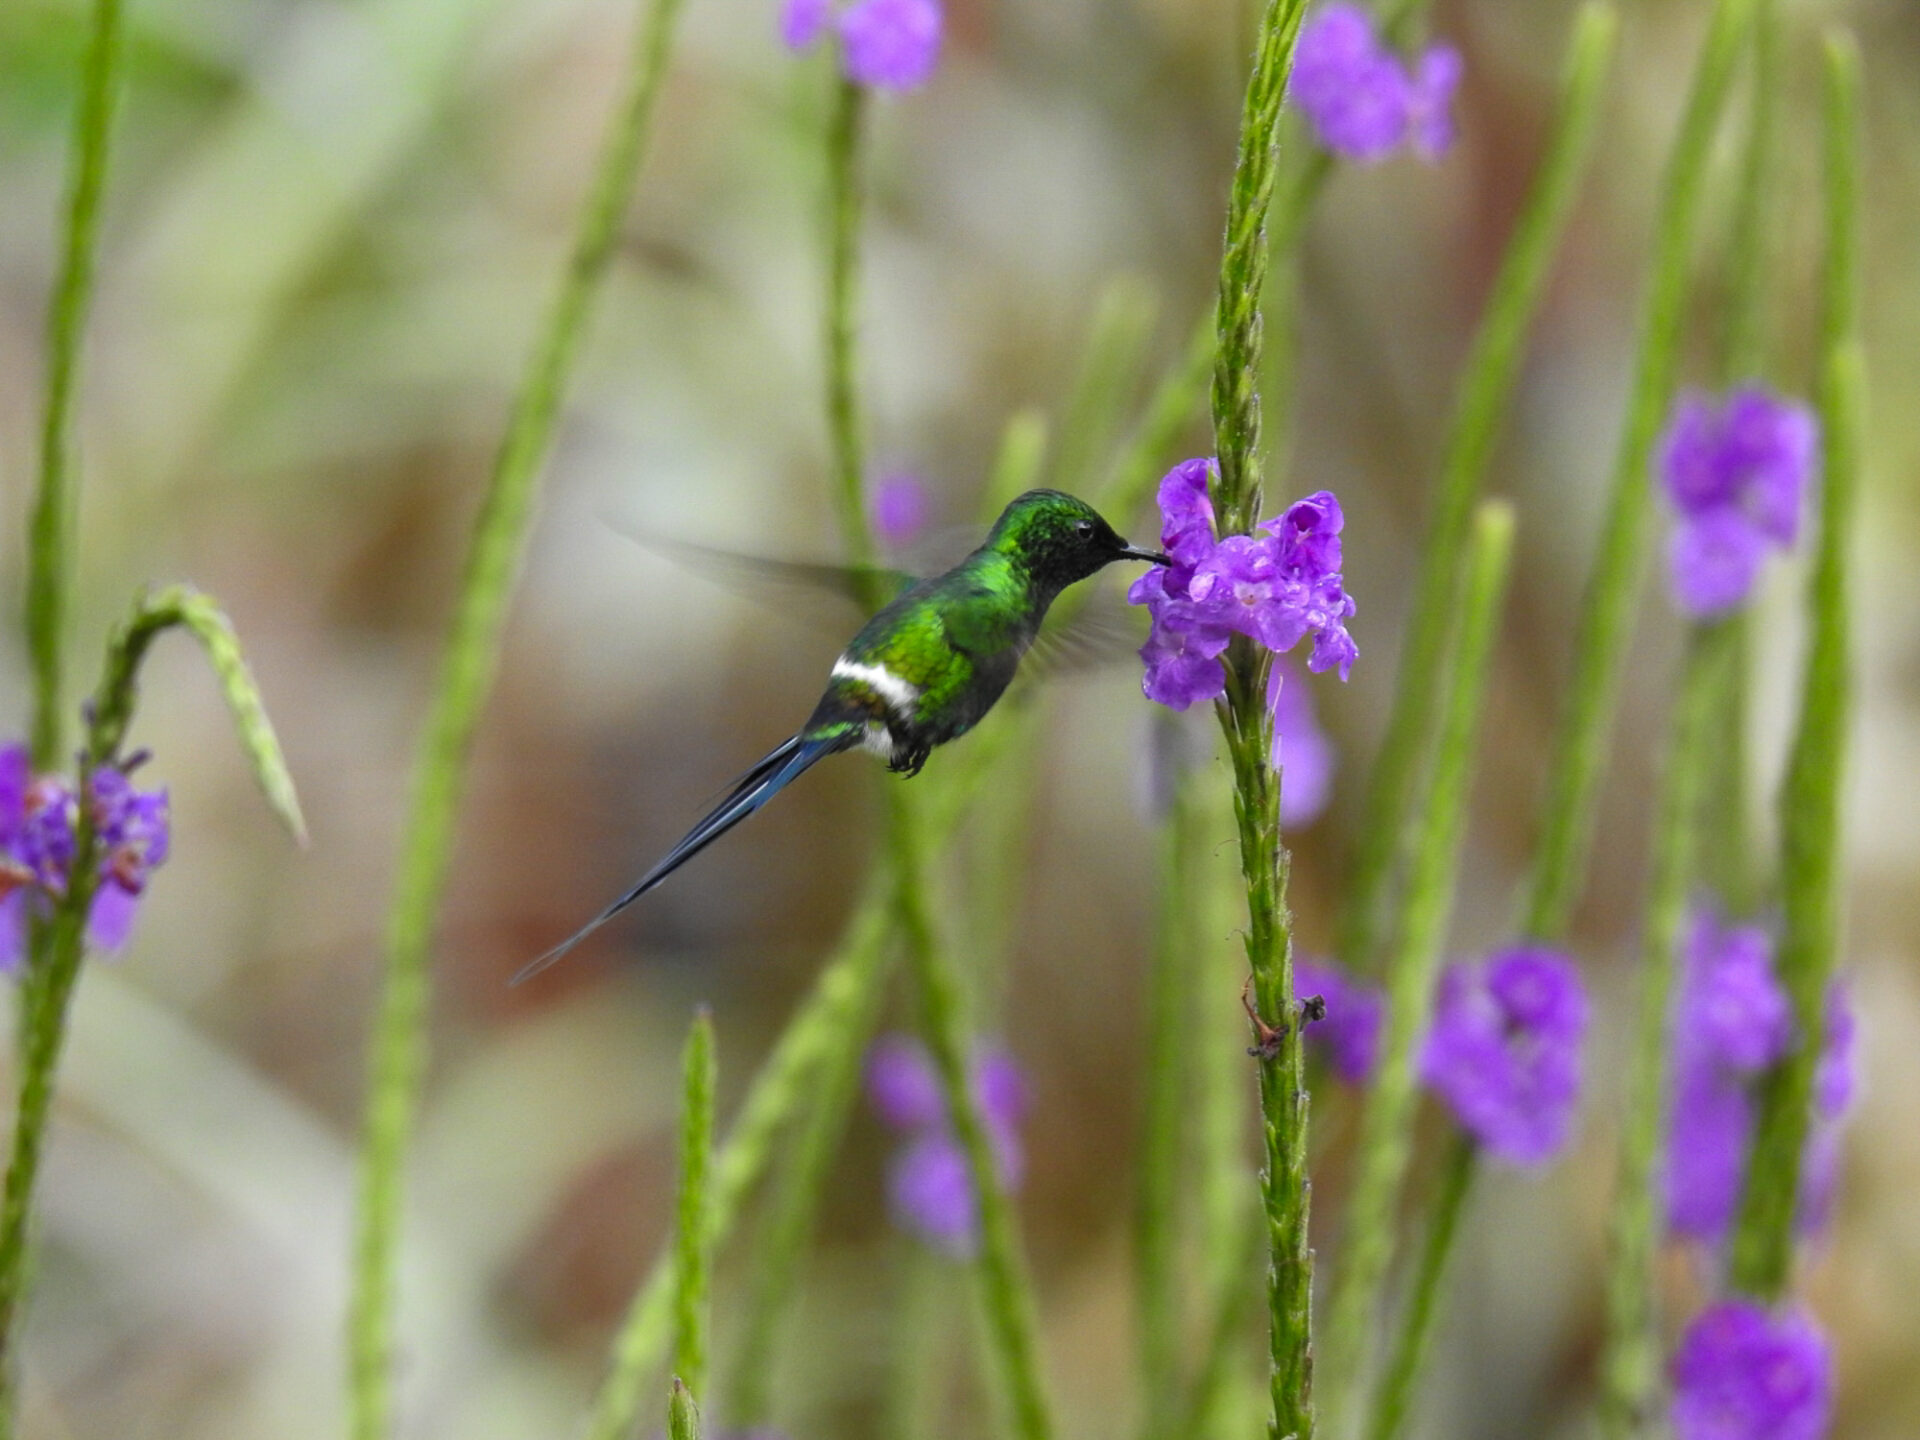
[[[1486,695],[1486,676],[1507,593],[1513,553],[1513,507],[1480,505],[1467,547],[1459,639],[1436,699],[1440,726],[1428,793],[1407,879],[1407,910],[1400,945],[1386,970],[1386,1023],[1380,1060],[1361,1114],[1354,1194],[1346,1212],[1346,1254],[1332,1290],[1327,1338],[1327,1392],[1338,1419],[1357,1415],[1365,1386],[1371,1317],[1394,1254],[1394,1212],[1413,1152],[1417,1031],[1425,1020],[1453,908],[1459,837],[1473,780],[1475,730]],[[1430,699],[1430,703],[1434,703]]]

